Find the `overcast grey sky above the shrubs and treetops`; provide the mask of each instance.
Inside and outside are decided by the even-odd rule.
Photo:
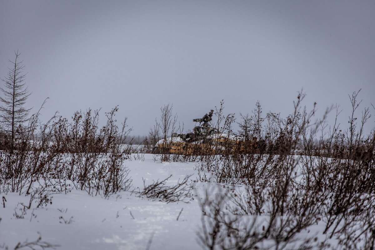
[[[222,99],[285,116],[301,88],[308,107],[341,105],[343,126],[348,94],[375,105],[374,0],[1,0],[0,34],[0,77],[19,49],[45,119],[119,105],[146,135],[168,103],[187,129]]]

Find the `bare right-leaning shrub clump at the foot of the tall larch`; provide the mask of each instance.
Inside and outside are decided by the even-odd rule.
[[[44,105],[44,103],[43,103]],[[25,133],[17,134],[12,148],[1,151],[3,168],[0,170],[0,192],[29,191],[33,182],[45,173],[45,168],[59,153],[60,148],[51,147],[53,116],[46,124],[40,124],[39,112],[29,119]]]

